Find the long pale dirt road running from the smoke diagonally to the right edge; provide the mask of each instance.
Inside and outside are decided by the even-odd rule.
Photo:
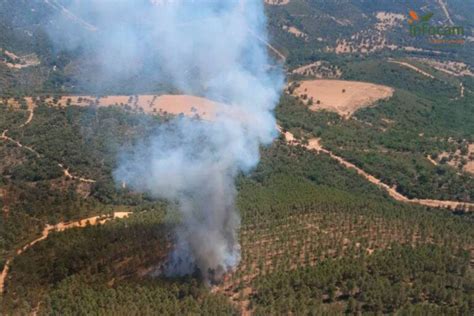
[[[281,127],[278,127],[278,129],[281,131]],[[368,174],[367,172],[357,167],[353,163],[350,163],[344,158],[339,157],[336,154],[332,153],[331,151],[323,148],[320,143],[320,139],[312,138],[309,140],[308,145],[303,145],[301,142],[296,140],[293,134],[291,134],[290,132],[285,132],[284,135],[285,135],[286,141],[290,145],[301,145],[309,150],[326,153],[331,158],[337,160],[337,162],[339,162],[344,167],[349,168],[349,169],[354,169],[359,175],[363,176],[369,182],[384,189],[392,198],[394,198],[397,201],[405,202],[405,203],[420,204],[420,205],[436,207],[436,208],[448,208],[452,210],[463,209],[463,210],[470,211],[474,209],[474,203],[468,203],[468,202],[443,201],[443,200],[431,200],[431,199],[409,199],[408,197],[397,192],[396,188],[388,186],[387,184],[383,183],[380,179],[377,179],[373,175]]]

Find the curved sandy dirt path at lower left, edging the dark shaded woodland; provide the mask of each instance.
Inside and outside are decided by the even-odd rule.
[[[60,222],[56,225],[46,224],[46,226],[44,227],[41,233],[41,236],[29,242],[28,244],[24,245],[20,249],[18,249],[15,253],[15,256],[21,255],[28,248],[31,248],[36,243],[48,238],[48,235],[51,232],[62,232],[62,231],[65,231],[66,229],[70,229],[74,227],[86,227],[87,225],[94,226],[98,224],[104,224],[105,222],[110,221],[112,219],[128,217],[130,214],[132,214],[132,212],[114,212],[112,216],[100,215],[100,216],[92,216],[89,218],[81,219],[75,222]],[[3,290],[5,287],[5,280],[7,279],[8,271],[10,270],[10,264],[12,260],[14,259],[14,257],[9,258],[5,262],[5,265],[3,266],[2,273],[0,274],[0,294],[3,294]]]

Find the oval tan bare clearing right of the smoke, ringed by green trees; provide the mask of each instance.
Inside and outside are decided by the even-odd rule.
[[[328,110],[345,118],[360,108],[390,98],[394,92],[387,86],[358,81],[307,80],[292,84],[296,84],[292,94],[305,101],[311,110]]]

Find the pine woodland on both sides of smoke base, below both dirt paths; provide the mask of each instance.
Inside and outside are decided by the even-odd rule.
[[[395,203],[329,157],[283,142],[262,158],[239,179],[242,263],[217,293],[197,279],[149,275],[168,253],[174,224],[163,205],[141,203],[145,212],[129,219],[52,234],[16,257],[3,311],[232,314],[231,294],[250,299],[257,314],[470,308],[468,217]],[[439,260],[426,272],[433,255]],[[440,277],[427,283],[429,273]],[[400,287],[406,294],[394,296]]]

